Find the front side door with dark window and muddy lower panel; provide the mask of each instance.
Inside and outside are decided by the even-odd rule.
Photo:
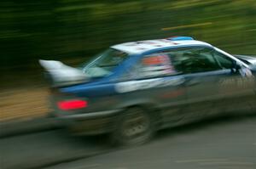
[[[180,48],[168,54],[185,78],[187,104],[183,108],[183,122],[216,114],[216,105],[222,99],[217,83],[230,70],[220,68],[212,56],[212,48]]]

